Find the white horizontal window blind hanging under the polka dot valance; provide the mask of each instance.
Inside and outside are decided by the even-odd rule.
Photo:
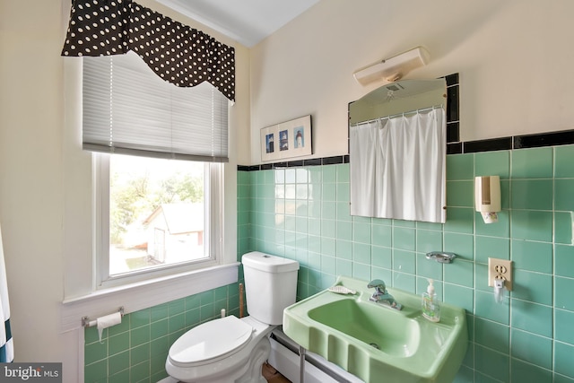
[[[227,100],[204,82],[178,88],[133,52],[83,57],[83,149],[228,161]]]

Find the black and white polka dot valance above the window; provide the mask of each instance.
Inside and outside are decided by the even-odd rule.
[[[62,56],[110,56],[133,50],[177,86],[211,83],[235,100],[235,48],[131,0],[76,0]]]

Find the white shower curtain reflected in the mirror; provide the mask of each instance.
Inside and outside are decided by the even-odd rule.
[[[351,126],[351,214],[445,222],[442,108]]]

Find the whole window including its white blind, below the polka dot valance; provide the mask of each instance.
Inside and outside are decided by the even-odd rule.
[[[98,286],[218,263],[228,108],[211,84],[178,88],[133,53],[83,58]]]

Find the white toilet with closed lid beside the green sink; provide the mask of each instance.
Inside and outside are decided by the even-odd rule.
[[[194,383],[265,383],[269,335],[295,303],[299,263],[258,251],[241,257],[248,317],[228,316],[196,326],[171,345],[165,370]]]

